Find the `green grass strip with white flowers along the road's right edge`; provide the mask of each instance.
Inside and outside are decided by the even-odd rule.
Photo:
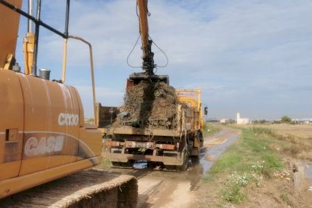
[[[226,202],[240,203],[247,198],[243,188],[257,184],[261,178],[270,178],[283,164],[272,143],[281,143],[266,129],[243,129],[242,135],[211,167],[204,183],[220,181],[219,196]]]

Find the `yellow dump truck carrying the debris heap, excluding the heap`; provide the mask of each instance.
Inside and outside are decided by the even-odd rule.
[[[170,170],[184,171],[190,157],[199,157],[204,125],[200,89],[176,89],[175,92],[180,103],[187,107],[177,105],[177,127],[174,129],[114,127],[112,124],[121,114],[119,108],[97,104],[98,128],[105,141],[103,155],[113,166],[132,166],[136,161],[147,161]]]

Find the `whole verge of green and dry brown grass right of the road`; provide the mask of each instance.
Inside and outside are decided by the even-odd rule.
[[[294,189],[293,164],[297,159],[312,159],[308,155],[312,150],[309,133],[297,137],[296,132],[302,130],[299,125],[239,128],[244,128],[242,136],[218,158],[209,177],[203,179],[207,183],[206,197],[216,198],[209,201],[211,207],[304,207],[308,184],[300,191]]]

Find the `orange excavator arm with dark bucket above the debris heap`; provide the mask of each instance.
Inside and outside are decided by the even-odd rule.
[[[142,42],[142,69],[144,72],[132,73],[129,76],[127,86],[137,85],[141,80],[150,80],[151,82],[164,82],[169,85],[169,78],[167,75],[156,75],[154,69],[157,65],[154,63],[154,53],[152,51],[153,40],[150,40],[148,35],[148,1],[137,0],[137,8],[139,11],[139,31]],[[130,84],[129,84],[130,83]]]

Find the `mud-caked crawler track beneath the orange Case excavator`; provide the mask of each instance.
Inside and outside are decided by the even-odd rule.
[[[137,207],[137,179],[89,169],[0,200],[0,207]]]

